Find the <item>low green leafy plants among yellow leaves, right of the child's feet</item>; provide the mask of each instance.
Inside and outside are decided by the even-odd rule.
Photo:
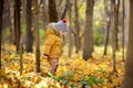
[[[58,81],[62,81],[62,85],[70,85],[71,87],[74,87],[74,85],[71,82],[71,79],[75,77],[75,73],[72,70],[68,70],[63,73],[62,76],[55,77],[51,73],[49,73],[49,76]],[[95,78],[94,76],[82,76],[79,80],[79,84],[84,85],[85,87],[91,87],[92,84],[99,85],[102,84],[103,79],[102,78]]]

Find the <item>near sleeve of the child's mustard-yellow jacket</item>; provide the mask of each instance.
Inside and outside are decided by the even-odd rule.
[[[44,42],[44,55],[50,55],[51,47],[55,40],[52,36],[48,36]]]

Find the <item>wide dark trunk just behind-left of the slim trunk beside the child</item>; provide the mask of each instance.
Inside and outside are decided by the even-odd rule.
[[[25,42],[25,51],[32,53],[33,52],[33,34],[32,34],[32,0],[27,0],[27,42]]]

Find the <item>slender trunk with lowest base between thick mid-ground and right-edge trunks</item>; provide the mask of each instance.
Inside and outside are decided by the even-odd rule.
[[[111,10],[112,10],[112,41],[113,41],[113,44],[112,44],[112,54],[113,54],[113,73],[116,73],[116,64],[115,64],[115,59],[116,59],[116,56],[115,56],[115,52],[116,52],[116,37],[115,37],[115,30],[116,30],[116,18],[115,18],[115,0],[111,0]]]

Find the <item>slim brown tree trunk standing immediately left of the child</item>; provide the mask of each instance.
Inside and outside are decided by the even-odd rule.
[[[33,0],[34,7],[34,30],[35,30],[35,72],[40,73],[40,37],[39,37],[39,19],[38,19],[38,1]]]

